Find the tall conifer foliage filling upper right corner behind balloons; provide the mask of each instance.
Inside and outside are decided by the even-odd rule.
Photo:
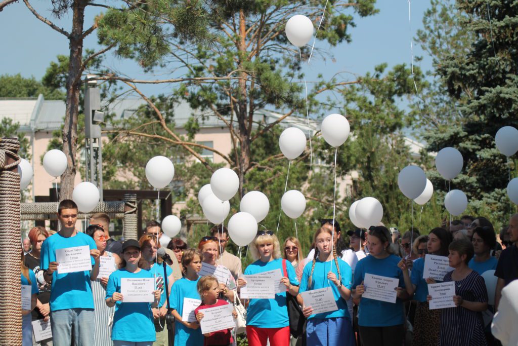
[[[506,157],[494,137],[503,126],[518,126],[515,32],[516,6],[502,1],[432,2],[426,13],[425,32],[418,34],[434,58],[439,88],[426,93],[426,113],[437,121],[425,126],[428,149],[453,146],[464,157],[464,169],[451,183],[466,192],[470,211],[499,226],[515,211],[505,196],[508,182]],[[490,16],[491,21],[490,22]],[[440,90],[442,89],[442,90]],[[515,162],[510,161],[511,171]],[[436,189],[443,179],[430,174]]]

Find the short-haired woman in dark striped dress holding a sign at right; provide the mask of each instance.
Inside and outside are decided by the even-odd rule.
[[[456,240],[449,252],[450,267],[455,270],[444,275],[444,282],[455,282],[453,301],[457,307],[442,309],[439,345],[487,345],[482,319],[482,311],[487,310],[487,290],[482,276],[468,267],[473,245]]]

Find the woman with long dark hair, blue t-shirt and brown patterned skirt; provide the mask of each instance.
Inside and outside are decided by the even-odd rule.
[[[428,235],[428,254],[448,256],[448,246],[452,242],[451,232],[444,228],[434,228]],[[399,268],[403,271],[407,293],[418,301],[414,319],[414,337],[412,344],[436,346],[439,338],[440,310],[430,310],[426,297],[428,296],[429,278],[424,278],[425,257],[413,262],[411,276],[409,274],[410,262],[407,259],[399,261]],[[415,294],[415,295],[414,295]]]

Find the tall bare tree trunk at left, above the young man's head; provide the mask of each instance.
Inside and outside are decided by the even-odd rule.
[[[72,32],[70,33],[70,60],[68,65],[68,77],[66,82],[66,110],[65,124],[63,127],[63,152],[68,165],[61,176],[60,201],[72,198],[74,181],[76,178],[77,157],[77,116],[79,114],[79,92],[81,88],[82,55],[83,55],[83,23],[84,7],[82,0],[74,2]]]

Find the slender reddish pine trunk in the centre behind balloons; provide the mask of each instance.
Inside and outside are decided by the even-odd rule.
[[[250,166],[250,133],[248,127],[248,109],[247,109],[247,74],[242,72],[244,70],[242,62],[247,57],[247,46],[246,46],[246,19],[244,17],[244,11],[239,11],[239,69],[241,70],[239,79],[239,97],[237,104],[237,121],[239,125],[239,144],[241,150],[239,151],[239,162],[238,164],[238,176],[239,176],[239,193],[240,197],[244,195],[244,173]],[[250,105],[251,107],[252,105]]]

